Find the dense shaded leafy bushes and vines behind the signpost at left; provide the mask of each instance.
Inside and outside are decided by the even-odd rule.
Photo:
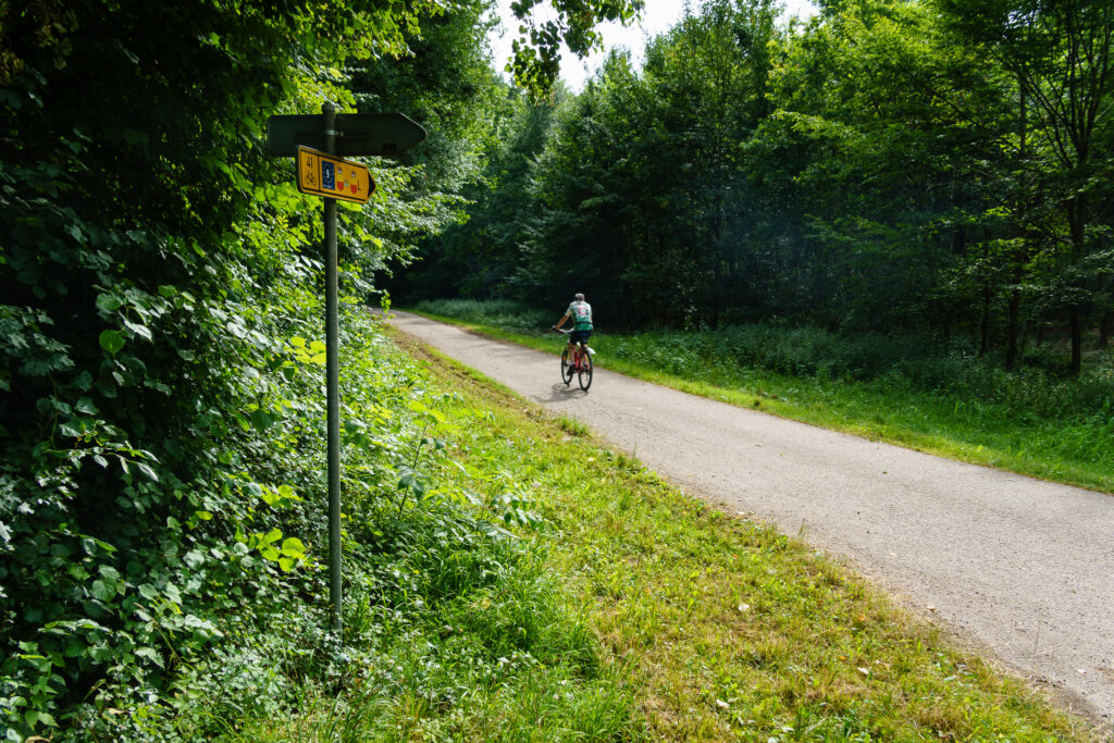
[[[329,647],[307,629],[322,624],[325,542],[322,345],[306,340],[321,336],[320,211],[265,157],[263,125],[344,99],[350,56],[404,51],[440,9],[319,12],[4,7],[0,716],[13,740],[152,740],[179,718],[207,737],[198,716],[253,687],[282,692],[248,702],[277,708]],[[446,221],[446,197],[413,190],[413,174],[377,167],[368,212],[389,225],[342,213],[345,294]],[[354,473],[382,478],[352,490],[388,500],[416,436],[391,421],[417,393],[368,373],[352,306],[345,354],[365,378],[346,377],[344,444],[371,457],[346,454]]]

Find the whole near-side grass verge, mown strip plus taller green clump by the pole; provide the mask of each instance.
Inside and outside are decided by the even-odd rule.
[[[219,740],[1101,740],[802,542],[400,340],[426,371],[383,365],[437,422],[423,492],[349,511],[344,647],[294,714]]]

